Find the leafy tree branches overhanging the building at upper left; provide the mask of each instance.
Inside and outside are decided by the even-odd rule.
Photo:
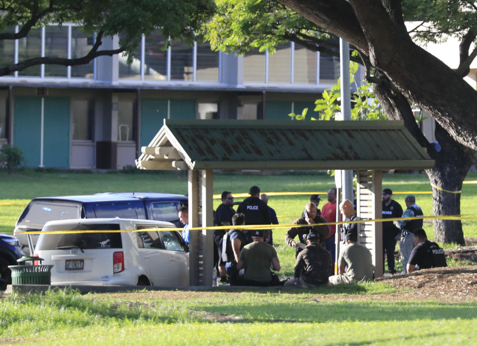
[[[124,52],[131,58],[142,34],[160,32],[185,42],[194,40],[197,29],[215,10],[213,0],[3,0],[0,2],[0,41],[27,37],[32,29],[56,23],[78,23],[95,42],[83,57],[34,57],[0,66],[0,75],[40,64],[73,66],[96,57]],[[18,25],[18,32],[12,27]],[[102,38],[120,34],[119,48],[101,50]]]

